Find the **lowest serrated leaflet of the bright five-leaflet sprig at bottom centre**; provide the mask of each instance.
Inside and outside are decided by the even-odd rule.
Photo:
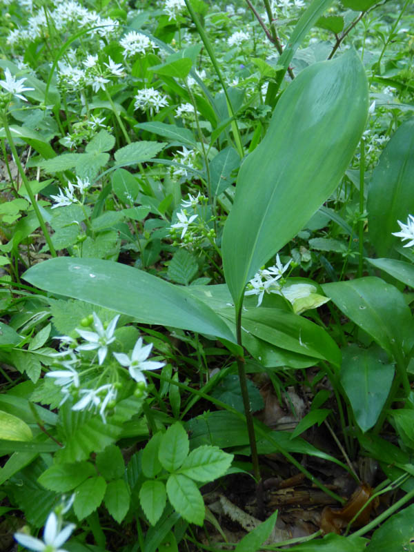
[[[167,495],[184,520],[196,525],[203,524],[206,511],[204,500],[193,480],[185,475],[172,473],[167,480]]]

